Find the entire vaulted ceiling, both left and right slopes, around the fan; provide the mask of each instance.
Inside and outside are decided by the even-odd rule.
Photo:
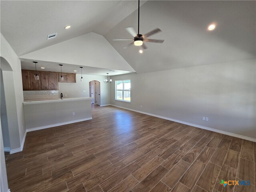
[[[150,38],[165,40],[145,43],[148,49],[142,54],[139,47],[123,49],[129,41],[112,40],[132,38],[125,28],[138,28],[137,1],[1,0],[1,33],[22,56],[94,32],[104,36],[137,73],[256,58],[255,1],[149,0],[140,4],[140,33],[160,28],[162,32]],[[208,31],[213,22],[216,29]],[[67,25],[71,28],[65,30]],[[46,40],[56,32],[56,38]],[[98,67],[96,62],[93,67]]]

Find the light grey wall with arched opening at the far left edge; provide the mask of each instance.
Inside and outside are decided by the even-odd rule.
[[[11,150],[20,150],[26,133],[24,110],[23,110],[23,90],[21,65],[18,56],[11,48],[10,44],[1,34],[1,70],[3,72],[4,92],[6,99],[7,114],[12,114],[8,118],[10,146]],[[8,95],[8,96],[7,96]],[[11,125],[12,124],[12,125]],[[11,130],[10,130],[11,127]]]

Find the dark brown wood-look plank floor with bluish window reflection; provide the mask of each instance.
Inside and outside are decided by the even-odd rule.
[[[254,142],[112,106],[92,118],[5,153],[11,192],[255,192]]]

